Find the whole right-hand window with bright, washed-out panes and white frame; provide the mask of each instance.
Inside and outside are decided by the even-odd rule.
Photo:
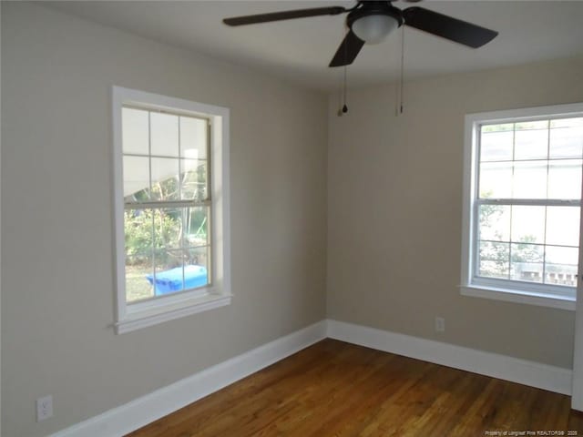
[[[574,310],[583,105],[465,117],[462,294]]]

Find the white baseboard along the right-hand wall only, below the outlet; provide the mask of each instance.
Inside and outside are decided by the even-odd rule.
[[[561,394],[571,394],[572,371],[496,353],[328,320],[328,337],[379,351],[472,371]]]

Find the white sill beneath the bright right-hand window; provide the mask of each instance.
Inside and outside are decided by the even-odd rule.
[[[504,300],[506,302],[525,303],[538,307],[557,308],[559,310],[575,310],[575,300],[568,297],[559,297],[551,294],[531,291],[504,290],[484,286],[460,286],[463,296]]]

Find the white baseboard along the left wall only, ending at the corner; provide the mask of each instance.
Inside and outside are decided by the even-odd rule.
[[[122,436],[326,338],[326,320],[200,371],[52,437]]]

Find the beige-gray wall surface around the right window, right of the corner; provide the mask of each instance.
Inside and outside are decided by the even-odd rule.
[[[572,368],[574,312],[460,295],[466,113],[583,100],[583,59],[329,101],[328,317]],[[445,317],[437,335],[435,316]]]

